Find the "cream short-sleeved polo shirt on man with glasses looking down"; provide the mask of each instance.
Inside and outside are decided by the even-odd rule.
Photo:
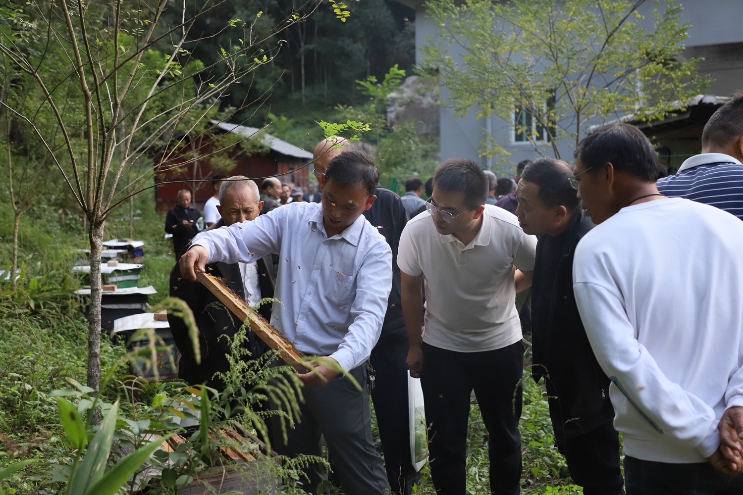
[[[467,246],[439,234],[427,213],[410,220],[400,235],[400,270],[426,278],[426,344],[478,353],[522,338],[512,266],[534,268],[536,237],[497,206],[485,205],[482,218]]]

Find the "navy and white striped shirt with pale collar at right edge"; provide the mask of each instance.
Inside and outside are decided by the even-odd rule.
[[[743,165],[723,153],[688,158],[675,175],[658,179],[658,191],[716,206],[743,220]]]

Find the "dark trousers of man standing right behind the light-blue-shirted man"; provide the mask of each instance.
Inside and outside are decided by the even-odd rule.
[[[407,339],[384,341],[371,351],[371,367],[377,372],[371,401],[377,413],[377,427],[384,451],[384,467],[393,494],[409,494],[418,482],[410,460],[408,416]]]

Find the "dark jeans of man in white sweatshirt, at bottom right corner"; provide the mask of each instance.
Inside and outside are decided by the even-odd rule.
[[[671,464],[624,458],[627,495],[743,494],[743,475],[731,478],[709,462]]]

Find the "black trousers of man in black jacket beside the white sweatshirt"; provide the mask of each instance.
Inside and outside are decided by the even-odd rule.
[[[623,495],[624,479],[619,459],[619,433],[606,422],[583,435],[557,442],[568,461],[573,482],[585,495]]]

